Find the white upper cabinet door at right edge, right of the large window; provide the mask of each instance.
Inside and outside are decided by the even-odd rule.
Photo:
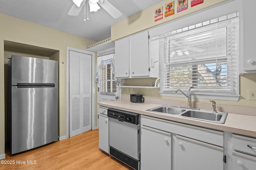
[[[248,5],[250,4],[250,5]],[[256,22],[254,16],[256,15],[256,1],[247,0],[246,3],[242,3],[243,6],[243,66],[244,71],[256,71],[256,54],[255,54],[255,43],[256,39]]]

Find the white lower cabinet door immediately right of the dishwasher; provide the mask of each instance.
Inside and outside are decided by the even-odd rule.
[[[141,127],[141,170],[171,170],[171,133]]]

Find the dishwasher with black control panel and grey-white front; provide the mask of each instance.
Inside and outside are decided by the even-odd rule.
[[[110,155],[131,168],[140,168],[140,114],[108,109]]]

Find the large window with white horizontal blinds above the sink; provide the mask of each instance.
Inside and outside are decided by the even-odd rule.
[[[193,94],[197,98],[238,100],[237,15],[230,14],[151,39],[160,40],[161,95],[174,96],[177,89],[186,91],[194,86]]]

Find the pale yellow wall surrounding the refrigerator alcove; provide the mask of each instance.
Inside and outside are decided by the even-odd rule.
[[[4,154],[4,40],[59,51],[59,136],[66,135],[66,47],[86,50],[96,43],[56,29],[0,14],[0,155]],[[54,56],[54,59],[58,57]],[[63,63],[62,63],[63,62]]]

